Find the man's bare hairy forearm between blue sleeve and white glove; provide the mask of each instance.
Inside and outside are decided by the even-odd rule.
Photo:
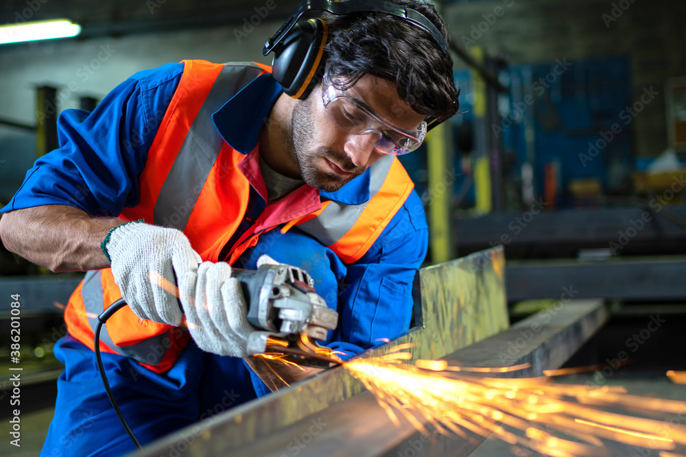
[[[51,271],[97,270],[110,266],[100,243],[122,223],[73,206],[36,206],[3,214],[0,238],[9,251]]]

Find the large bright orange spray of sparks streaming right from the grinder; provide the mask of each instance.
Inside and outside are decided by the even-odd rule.
[[[410,356],[400,354],[392,351],[351,360],[344,367],[375,395],[394,424],[399,425],[400,412],[424,434],[429,433],[430,424],[443,434],[493,435],[553,457],[607,455],[602,439],[652,449],[686,445],[683,425],[665,430],[661,421],[599,409],[624,407],[655,416],[683,411],[686,402],[628,395],[622,387],[554,384],[548,377],[486,378],[458,373],[505,373],[528,365],[458,367],[445,360],[418,360],[412,365],[405,362]],[[500,424],[523,431],[523,436]]]

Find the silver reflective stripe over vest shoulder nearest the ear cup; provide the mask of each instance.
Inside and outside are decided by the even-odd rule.
[[[156,225],[185,229],[224,142],[212,114],[262,71],[255,64],[228,64],[217,76],[162,185],[153,212]]]

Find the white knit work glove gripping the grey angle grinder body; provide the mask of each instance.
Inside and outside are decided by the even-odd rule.
[[[197,272],[179,277],[186,323],[200,349],[222,356],[248,357],[248,306],[241,284],[226,262],[203,262]]]

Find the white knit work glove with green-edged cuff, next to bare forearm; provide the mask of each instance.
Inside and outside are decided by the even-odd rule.
[[[119,225],[102,243],[121,296],[141,319],[180,325],[176,278],[202,262],[180,230],[143,222]]]

